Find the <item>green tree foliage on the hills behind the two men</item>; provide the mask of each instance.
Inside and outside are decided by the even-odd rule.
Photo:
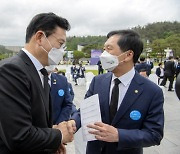
[[[147,55],[149,48],[152,49],[150,56],[164,57],[164,49],[167,47],[174,51],[175,56],[180,56],[180,23],[174,22],[156,22],[145,26],[137,26],[132,28],[137,31],[144,42],[144,54]],[[107,32],[108,33],[108,32]],[[102,49],[106,41],[106,36],[72,36],[67,37],[67,50],[75,51],[75,58],[84,56],[90,57],[92,49]],[[149,43],[147,44],[147,40]],[[83,53],[77,52],[77,45],[83,45]],[[0,46],[0,54],[6,56],[5,53],[11,53]],[[81,57],[82,58],[82,57]]]

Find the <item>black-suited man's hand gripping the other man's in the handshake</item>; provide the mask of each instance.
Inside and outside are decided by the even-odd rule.
[[[62,143],[68,143],[72,142],[74,135],[73,132],[69,132],[67,128],[67,122],[61,122],[57,126],[55,126],[55,129],[59,129],[63,135]]]

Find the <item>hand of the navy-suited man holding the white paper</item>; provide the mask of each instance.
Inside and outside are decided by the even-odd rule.
[[[94,134],[97,140],[105,141],[105,142],[118,142],[119,135],[117,128],[102,123],[95,122],[94,124],[87,125],[88,128],[93,128],[95,130],[90,130],[90,134]]]

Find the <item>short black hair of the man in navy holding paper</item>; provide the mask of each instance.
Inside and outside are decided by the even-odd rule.
[[[107,38],[113,35],[120,36],[118,45],[123,52],[128,50],[134,52],[133,62],[136,63],[143,51],[143,42],[141,41],[139,34],[133,30],[117,30],[109,32]]]

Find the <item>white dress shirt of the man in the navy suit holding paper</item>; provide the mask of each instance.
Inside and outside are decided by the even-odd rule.
[[[115,78],[118,78],[121,83],[119,84],[119,100],[118,100],[118,107],[117,107],[117,110],[119,109],[123,99],[124,99],[124,96],[129,88],[129,85],[133,79],[135,75],[135,70],[134,70],[134,67],[129,71],[127,72],[126,74],[120,76],[120,77],[116,77],[114,74],[112,76],[112,80],[111,80],[111,86],[110,86],[110,93],[109,93],[109,104],[111,102],[111,94],[112,94],[112,89],[114,87],[114,79]]]

